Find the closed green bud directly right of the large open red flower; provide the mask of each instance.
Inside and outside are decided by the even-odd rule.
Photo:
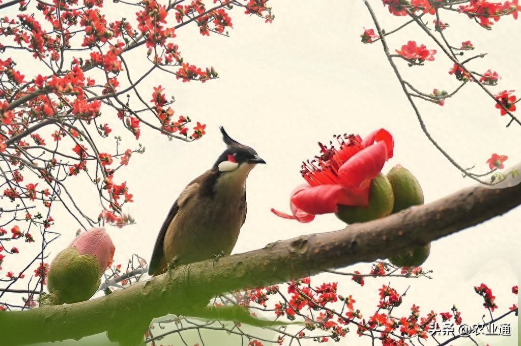
[[[424,203],[423,191],[416,177],[401,165],[394,166],[387,178],[394,194],[392,213]]]

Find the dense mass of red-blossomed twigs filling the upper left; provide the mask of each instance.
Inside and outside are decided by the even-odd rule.
[[[218,78],[213,67],[202,69],[184,61],[174,41],[176,30],[194,24],[203,35],[227,35],[233,28],[233,7],[267,22],[274,18],[267,0],[245,0],[242,6],[229,1],[210,3],[193,0],[182,7],[155,0],[132,6],[120,3],[121,17],[114,21],[105,14],[103,0],[9,5],[19,6],[20,11],[13,18],[0,18],[0,50],[4,54],[0,58],[0,152],[10,166],[2,191],[6,202],[21,201],[25,209],[11,208],[10,213],[13,221],[26,220],[27,226],[0,228],[0,236],[11,229],[10,239],[34,242],[32,227],[45,232],[54,224],[48,215],[54,202],[66,204],[76,217],[91,219],[89,211],[82,210],[81,201],[75,200],[77,196],[67,190],[69,178],[94,184],[103,208],[100,222],[118,226],[133,222],[122,210],[123,204],[133,202],[133,196],[126,182],[117,181],[117,172],[129,164],[132,153],[141,153],[144,148],[140,145],[121,151],[118,132],[126,129],[139,139],[142,127],[149,126],[185,140],[206,134],[204,122],[194,121],[189,126],[193,121],[189,117],[174,115],[173,101],[165,97],[161,86],[151,91],[150,102],[138,89],[154,70],[184,82]],[[134,63],[140,49],[150,69],[137,75],[129,62]],[[39,69],[28,76],[24,69],[31,60]],[[116,149],[102,148],[95,134],[103,138],[114,135]],[[8,212],[1,213],[8,224]],[[0,262],[5,264],[6,257],[18,253],[18,248],[11,252],[2,248],[0,252]],[[26,274],[8,271],[2,276],[14,281]],[[32,306],[32,298],[26,298],[26,305]]]

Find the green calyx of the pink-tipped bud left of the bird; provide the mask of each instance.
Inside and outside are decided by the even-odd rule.
[[[81,302],[96,293],[100,276],[100,263],[95,255],[80,255],[75,247],[67,248],[51,262],[47,289],[59,297],[58,304]]]

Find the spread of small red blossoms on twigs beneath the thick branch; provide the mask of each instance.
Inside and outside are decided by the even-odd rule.
[[[373,264],[371,273],[379,275],[377,272],[380,268],[380,262]],[[383,268],[386,268],[386,265],[383,265]],[[402,274],[411,271],[421,273],[421,268],[403,268]],[[287,285],[289,296],[285,296],[277,285],[236,291],[233,292],[233,297],[240,305],[249,307],[254,316],[256,314],[252,312],[253,303],[261,306],[261,310],[272,311],[277,318],[286,317],[290,321],[301,319],[305,326],[295,333],[294,338],[313,338],[318,342],[340,341],[349,331],[347,326],[352,324],[361,337],[374,339],[374,336],[378,335],[382,345],[406,346],[413,338],[428,339],[431,327],[436,326],[437,318],[440,318],[433,311],[422,316],[420,307],[416,304],[412,304],[410,313],[397,315],[394,309],[403,305],[404,296],[390,285],[381,286],[378,291],[378,310],[368,318],[364,318],[361,311],[356,309],[356,300],[352,295],[344,297],[338,294],[337,283],[321,283],[317,286],[312,284],[311,278],[306,277],[289,281]],[[514,286],[512,291],[517,292],[517,286]],[[277,296],[283,297],[283,300],[274,301]],[[275,304],[270,305],[270,301],[274,301]],[[215,305],[222,304],[216,302]],[[514,305],[511,310],[515,309],[517,307]],[[442,322],[453,319],[456,325],[462,323],[461,313],[456,306],[451,308],[451,312],[441,312],[439,316]],[[312,332],[322,334],[314,336]],[[284,337],[287,335],[280,335],[277,340],[282,341]]]

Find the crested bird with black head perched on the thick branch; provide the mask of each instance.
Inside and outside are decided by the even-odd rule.
[[[220,127],[226,150],[212,168],[185,187],[159,230],[148,265],[157,276],[168,267],[229,255],[246,220],[246,178],[257,152]]]

